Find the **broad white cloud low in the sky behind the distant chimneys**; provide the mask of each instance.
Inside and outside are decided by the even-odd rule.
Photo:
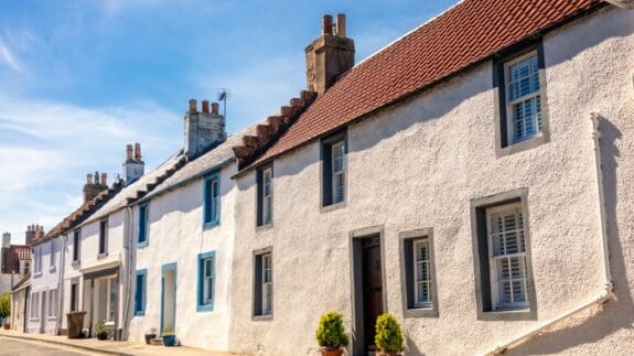
[[[181,129],[180,115],[152,101],[92,109],[0,96],[0,230],[20,241],[29,224],[52,228],[82,203],[86,173],[111,182],[132,142],[150,170],[181,147]]]

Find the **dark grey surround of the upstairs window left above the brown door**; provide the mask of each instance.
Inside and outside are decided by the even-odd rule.
[[[343,142],[344,145],[344,164],[343,164],[343,199],[334,202],[333,199],[333,179],[334,172],[332,166],[332,148],[333,145]],[[321,160],[321,208],[322,212],[330,212],[339,207],[344,207],[347,202],[347,154],[348,154],[348,140],[347,131],[335,132],[321,140],[320,145],[320,160]]]

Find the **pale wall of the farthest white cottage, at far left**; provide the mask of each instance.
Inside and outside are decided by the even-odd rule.
[[[54,244],[54,249],[53,249]],[[26,332],[29,333],[40,333],[42,323],[44,323],[44,333],[46,334],[55,334],[56,325],[57,325],[57,315],[60,310],[60,271],[61,271],[61,261],[62,261],[62,240],[60,238],[52,239],[50,241],[40,244],[34,248],[42,250],[42,270],[35,273],[35,261],[33,260],[34,253],[31,252],[31,289],[30,289],[30,296],[29,303],[33,301],[33,293],[37,293],[40,295],[40,316],[34,317],[33,315],[28,315],[26,322]],[[33,249],[32,249],[33,251]],[[53,262],[51,258],[53,256]],[[50,305],[50,296],[49,294],[51,291],[56,290],[57,294],[55,298],[55,305],[57,309],[57,313],[55,315],[49,316],[47,311],[51,308]],[[42,294],[45,293],[46,305],[44,315],[42,315]],[[28,309],[28,313],[31,309]],[[43,321],[42,321],[43,319]]]

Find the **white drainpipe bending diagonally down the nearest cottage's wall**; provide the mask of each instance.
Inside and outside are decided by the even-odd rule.
[[[544,330],[555,325],[556,323],[568,319],[569,316],[576,315],[587,309],[590,309],[594,305],[600,305],[609,302],[614,298],[614,284],[612,282],[612,271],[610,268],[610,250],[608,245],[608,224],[606,224],[606,216],[605,216],[605,194],[603,190],[603,163],[601,161],[601,115],[597,112],[590,114],[590,120],[592,121],[592,143],[594,145],[594,172],[597,177],[597,191],[598,191],[598,204],[599,204],[599,215],[600,215],[600,225],[601,225],[601,241],[603,245],[603,268],[604,268],[604,278],[605,278],[605,285],[603,292],[593,299],[592,301],[578,306],[574,310],[571,310],[565,313],[561,316],[558,316],[540,326],[533,328],[530,332],[520,335],[511,342],[507,342],[503,345],[498,345],[494,349],[485,353],[485,355],[501,355],[507,352],[511,348],[517,347],[523,343],[529,341],[530,338],[538,336]]]

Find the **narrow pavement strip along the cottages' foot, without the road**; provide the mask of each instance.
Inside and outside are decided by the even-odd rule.
[[[84,350],[89,350],[94,353],[110,354],[110,355],[121,355],[121,356],[132,356],[132,355],[165,355],[180,356],[180,355],[209,355],[209,356],[229,356],[237,355],[232,353],[219,353],[203,350],[200,348],[186,347],[186,346],[153,346],[147,345],[144,343],[136,342],[115,342],[115,341],[99,341],[97,338],[67,338],[66,336],[56,336],[47,334],[31,334],[22,333],[10,330],[0,330],[0,338],[21,338],[36,342],[44,342],[50,344],[56,344],[66,347],[75,347]]]

